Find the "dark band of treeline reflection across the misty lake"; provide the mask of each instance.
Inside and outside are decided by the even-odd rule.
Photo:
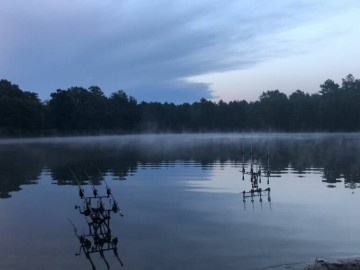
[[[46,170],[57,185],[76,185],[69,168],[82,185],[89,184],[85,172],[96,185],[102,179],[98,169],[114,180],[125,180],[135,174],[139,165],[158,166],[178,160],[193,161],[204,169],[215,163],[241,164],[243,148],[256,145],[256,152],[264,161],[267,149],[271,153],[272,175],[289,168],[299,176],[314,170],[321,172],[329,185],[343,181],[345,187],[360,184],[360,141],[356,135],[248,135],[216,138],[190,136],[128,136],[100,139],[74,139],[72,142],[27,143],[0,145],[0,197],[9,198],[21,185],[37,183]],[[245,157],[249,162],[249,156]],[[262,164],[263,166],[266,164]]]

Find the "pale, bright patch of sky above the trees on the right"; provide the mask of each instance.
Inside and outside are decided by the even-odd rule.
[[[277,57],[243,69],[194,76],[189,81],[208,82],[215,100],[254,101],[266,90],[317,93],[326,79],[341,84],[350,73],[359,78],[359,6],[340,11],[333,16],[324,13],[321,20],[273,36],[277,44],[283,44]]]

